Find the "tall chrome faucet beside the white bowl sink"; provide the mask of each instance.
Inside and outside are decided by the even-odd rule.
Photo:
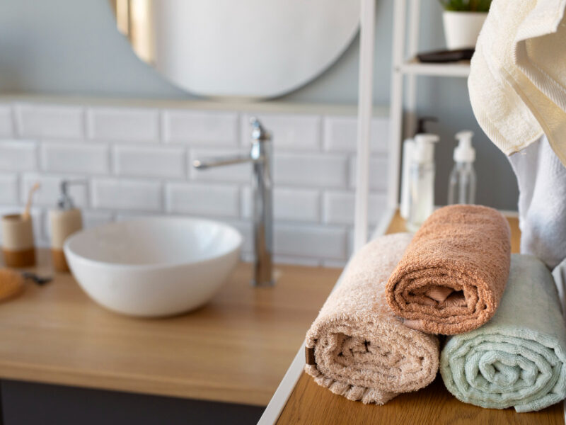
[[[204,170],[251,162],[253,164],[253,245],[255,250],[253,280],[254,286],[270,286],[275,282],[272,273],[273,251],[273,208],[272,208],[272,147],[271,134],[262,127],[257,118],[250,119],[252,126],[250,153],[234,157],[195,159],[196,169]]]

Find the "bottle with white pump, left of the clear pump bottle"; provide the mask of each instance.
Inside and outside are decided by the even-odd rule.
[[[437,135],[415,136],[410,166],[410,208],[407,228],[415,232],[434,210],[434,143]]]

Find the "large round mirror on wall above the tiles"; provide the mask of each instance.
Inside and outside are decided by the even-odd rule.
[[[141,60],[209,97],[270,98],[335,62],[357,33],[352,0],[110,0]]]

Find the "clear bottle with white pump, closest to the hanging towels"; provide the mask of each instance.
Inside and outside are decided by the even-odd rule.
[[[450,173],[448,203],[475,203],[475,149],[472,146],[473,132],[464,130],[456,133],[458,146],[454,149],[454,169]]]

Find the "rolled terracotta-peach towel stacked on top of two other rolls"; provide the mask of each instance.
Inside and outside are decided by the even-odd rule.
[[[505,217],[480,205],[440,208],[423,223],[387,283],[387,302],[413,329],[454,335],[495,314],[509,276]]]

